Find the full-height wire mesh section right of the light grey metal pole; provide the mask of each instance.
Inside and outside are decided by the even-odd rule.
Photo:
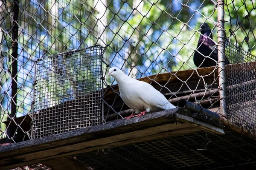
[[[255,2],[225,1],[227,116],[239,132],[256,136]],[[241,15],[242,13],[242,15]],[[238,128],[237,128],[238,127]]]

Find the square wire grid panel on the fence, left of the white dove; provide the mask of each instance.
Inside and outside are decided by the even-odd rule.
[[[32,138],[101,123],[102,47],[38,59]]]

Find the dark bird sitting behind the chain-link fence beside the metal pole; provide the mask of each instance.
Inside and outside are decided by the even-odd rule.
[[[200,27],[201,28],[199,29],[199,31],[205,37],[203,35],[200,35],[199,37],[197,51],[195,51],[195,54],[194,54],[194,63],[199,68],[215,66],[216,65],[215,61],[218,61],[218,48],[216,46],[216,43],[211,40],[212,39],[211,28],[207,23],[201,24]],[[203,55],[198,53],[198,51]],[[212,59],[207,57],[210,57]],[[229,63],[230,63],[229,60],[226,59],[226,64],[229,64]]]

